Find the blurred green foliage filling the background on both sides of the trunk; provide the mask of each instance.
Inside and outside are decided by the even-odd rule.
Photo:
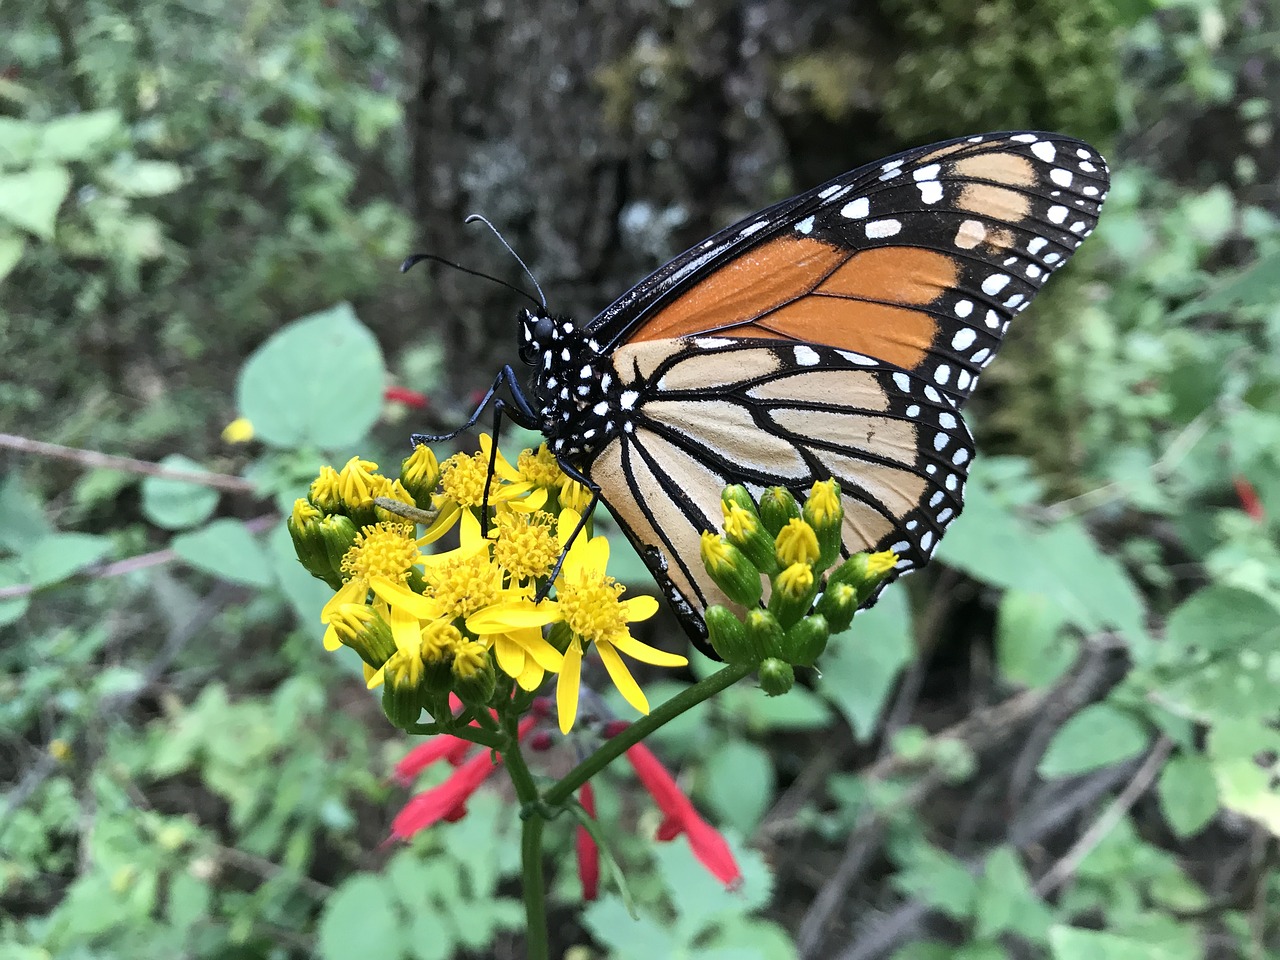
[[[653,844],[611,772],[640,919],[608,887],[584,910],[557,864],[562,946],[782,960],[818,924],[810,956],[1280,956],[1274,13],[879,10],[906,52],[791,51],[790,109],[873,110],[904,141],[1060,127],[1116,145],[1114,191],[1032,311],[1069,323],[1033,316],[984,378],[945,570],[787,696],[732,689],[654,737],[760,851],[744,891]],[[323,655],[328,591],[271,513],[408,431],[388,364],[433,370],[387,321],[412,233],[397,24],[361,0],[8,14],[0,429],[178,476],[29,458],[0,479],[0,957],[518,955],[499,788],[379,846],[408,745]],[[595,78],[609,116],[641,74],[690,69],[636,44]],[[219,440],[237,413],[252,444]]]

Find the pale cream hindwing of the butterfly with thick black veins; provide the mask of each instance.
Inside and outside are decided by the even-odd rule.
[[[844,553],[893,549],[899,572],[928,561],[960,512],[973,442],[951,402],[890,364],[820,344],[646,340],[614,369],[639,394],[630,429],[588,468],[694,636],[727,603],[699,538],[721,524],[721,490],[844,492]]]

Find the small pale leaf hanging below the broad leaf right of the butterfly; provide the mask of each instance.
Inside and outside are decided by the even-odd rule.
[[[1079,644],[1062,634],[1066,614],[1044,594],[1010,590],[1000,599],[996,657],[1014,684],[1050,686],[1065,673]]]

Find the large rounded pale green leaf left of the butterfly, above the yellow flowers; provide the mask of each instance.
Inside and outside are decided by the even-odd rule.
[[[296,320],[241,370],[237,402],[276,447],[357,444],[383,407],[383,355],[347,303]]]

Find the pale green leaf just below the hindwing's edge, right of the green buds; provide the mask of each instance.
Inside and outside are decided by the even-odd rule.
[[[910,630],[906,594],[890,588],[874,607],[854,617],[846,632],[831,637],[818,660],[818,692],[836,705],[861,740],[876,731],[897,675],[914,655]]]

